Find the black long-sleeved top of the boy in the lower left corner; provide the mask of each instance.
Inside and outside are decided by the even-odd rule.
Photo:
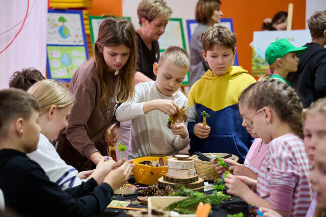
[[[13,149],[0,150],[0,174],[6,206],[21,216],[94,216],[113,195],[110,185],[93,178],[63,191],[38,163]]]

